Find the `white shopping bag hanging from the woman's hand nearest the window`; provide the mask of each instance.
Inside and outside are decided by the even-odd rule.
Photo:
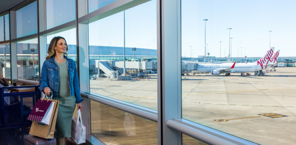
[[[78,118],[76,118],[77,114]],[[72,118],[71,138],[75,141],[76,144],[82,144],[85,143],[86,129],[85,126],[82,124],[80,109],[77,111],[76,116]]]

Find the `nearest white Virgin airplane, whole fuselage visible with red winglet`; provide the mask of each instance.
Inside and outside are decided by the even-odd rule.
[[[271,47],[262,58],[255,63],[222,63],[222,64],[198,64],[197,73],[211,73],[220,75],[225,73],[225,76],[230,73],[254,73],[255,75],[263,75],[262,70],[270,65],[271,58],[274,54],[274,48]],[[277,57],[276,57],[277,58]]]

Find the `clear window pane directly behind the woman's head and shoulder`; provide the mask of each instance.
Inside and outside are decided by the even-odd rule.
[[[66,51],[66,53],[68,54],[68,58],[73,59],[77,64],[76,28],[47,36],[47,50],[49,48],[49,43],[51,39],[56,36],[61,36],[66,39],[66,42],[68,44],[68,51]]]

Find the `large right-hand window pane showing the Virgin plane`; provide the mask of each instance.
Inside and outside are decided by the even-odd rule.
[[[183,118],[261,145],[296,143],[295,4],[181,0]]]

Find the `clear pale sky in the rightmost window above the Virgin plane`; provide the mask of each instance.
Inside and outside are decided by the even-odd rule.
[[[280,49],[279,57],[296,54],[296,0],[181,0],[182,57],[204,55],[206,43],[210,56],[262,57],[271,47]],[[230,31],[228,28],[232,28]],[[241,47],[243,51],[241,52]],[[224,50],[226,49],[226,50]],[[294,55],[293,55],[294,54]]]

